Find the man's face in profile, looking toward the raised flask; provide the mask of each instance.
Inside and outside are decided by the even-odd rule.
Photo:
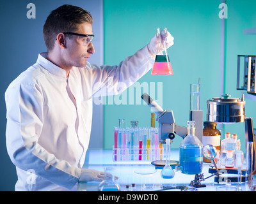
[[[80,24],[78,34],[93,34],[92,25],[89,23]],[[70,66],[84,67],[91,54],[95,53],[92,42],[84,43],[86,37],[72,35],[72,38],[66,38],[65,61]]]

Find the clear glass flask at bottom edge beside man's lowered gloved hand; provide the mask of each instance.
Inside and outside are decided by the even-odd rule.
[[[115,180],[114,170],[115,168],[105,168],[104,180],[100,182],[98,191],[121,191],[119,184]]]

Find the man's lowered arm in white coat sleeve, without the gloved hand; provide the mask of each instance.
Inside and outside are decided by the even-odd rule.
[[[24,171],[32,169],[36,175],[72,189],[79,180],[81,170],[57,159],[38,144],[44,122],[40,88],[30,84],[11,85],[5,99],[6,146],[13,164]]]

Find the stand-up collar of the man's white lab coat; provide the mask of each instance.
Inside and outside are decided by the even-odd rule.
[[[36,63],[40,64],[44,69],[47,69],[47,71],[49,71],[53,75],[56,75],[58,77],[63,77],[66,79],[67,77],[66,77],[65,69],[61,69],[60,67],[56,66],[55,64],[50,62],[48,59],[46,59],[46,57],[47,57],[47,52],[42,52],[38,54]]]

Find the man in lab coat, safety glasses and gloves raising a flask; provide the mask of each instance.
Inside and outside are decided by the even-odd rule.
[[[118,66],[88,62],[93,47],[90,12],[72,5],[51,11],[44,24],[47,52],[8,86],[6,145],[16,166],[15,191],[76,191],[77,182],[101,181],[102,171],[83,169],[90,140],[93,97],[120,94],[154,63],[159,38]],[[118,82],[122,88],[118,89]]]

